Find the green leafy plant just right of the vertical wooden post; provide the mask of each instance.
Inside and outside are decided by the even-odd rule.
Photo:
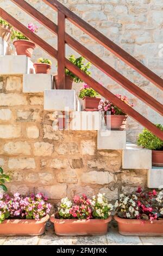
[[[91,75],[91,72],[89,71],[90,67],[91,67],[91,63],[87,62],[85,63],[85,58],[83,56],[80,56],[79,58],[76,58],[74,55],[71,55],[69,58],[70,62],[74,65],[76,65],[79,69],[81,69],[82,71],[85,72],[85,74],[87,75]],[[80,83],[83,82],[83,80],[81,80],[79,77],[77,77],[76,75],[74,75],[70,70],[65,69],[65,74],[67,76],[71,76],[73,78],[73,81],[76,83]]]

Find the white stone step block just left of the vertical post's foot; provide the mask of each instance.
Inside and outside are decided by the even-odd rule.
[[[23,93],[43,93],[43,90],[53,88],[54,80],[50,74],[23,75]]]

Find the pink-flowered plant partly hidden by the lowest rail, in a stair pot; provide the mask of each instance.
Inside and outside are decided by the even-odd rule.
[[[122,100],[124,103],[126,103],[130,107],[134,107],[133,103],[130,103],[128,101],[127,96],[122,96],[120,94],[116,94],[118,99]],[[111,115],[126,115],[120,108],[115,106],[111,101],[109,100],[101,100],[98,105],[99,111],[103,111],[106,115],[107,111],[110,111]]]

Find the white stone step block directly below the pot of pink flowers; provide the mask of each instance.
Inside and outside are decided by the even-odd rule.
[[[99,130],[97,149],[126,149],[126,131]]]

